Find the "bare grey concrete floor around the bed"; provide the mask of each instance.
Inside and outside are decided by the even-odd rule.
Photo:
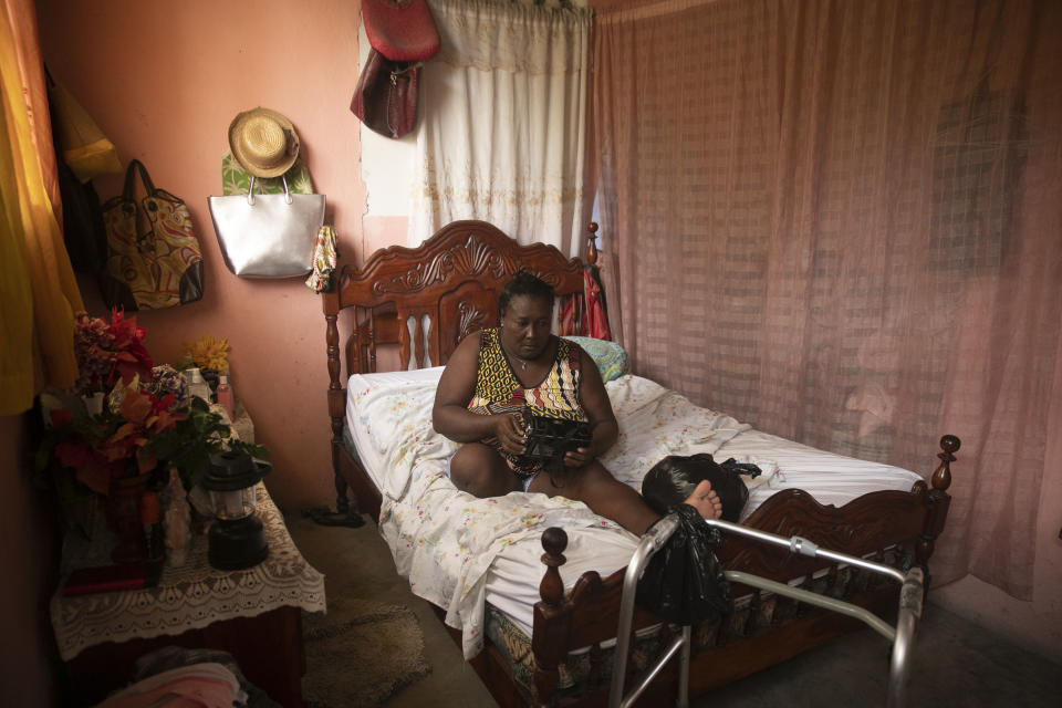
[[[431,674],[387,704],[492,707],[426,602],[394,570],[372,522],[360,529],[319,527],[289,514],[289,530],[306,560],[325,574],[326,593],[405,604],[420,621]],[[867,629],[809,652],[693,701],[695,708],[821,708],[882,706],[889,645]],[[909,706],[1051,707],[1062,705],[1062,666],[988,634],[930,603],[915,645]]]

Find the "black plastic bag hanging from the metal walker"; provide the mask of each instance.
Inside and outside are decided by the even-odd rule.
[[[730,583],[712,549],[720,534],[689,504],[678,504],[678,528],[638,581],[637,605],[668,622],[695,625],[733,610]]]

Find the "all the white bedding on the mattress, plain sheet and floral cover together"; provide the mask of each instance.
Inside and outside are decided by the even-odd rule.
[[[560,569],[568,587],[586,571],[606,576],[625,566],[637,539],[579,502],[528,493],[481,500],[455,489],[446,470],[457,446],[436,434],[430,420],[441,371],[352,376],[346,421],[365,470],[383,493],[379,533],[398,572],[415,594],[447,608],[447,623],[462,629],[470,658],[482,646],[483,602],[531,633],[543,529],[568,531],[568,562]],[[610,382],[606,391],[621,436],[603,462],[635,489],[663,457],[696,452],[763,469],[749,485],[742,518],[781,489],[800,488],[821,503],[841,506],[871,491],[907,491],[922,479],[751,429],[637,376]]]

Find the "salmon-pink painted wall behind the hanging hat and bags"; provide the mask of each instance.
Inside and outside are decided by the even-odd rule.
[[[331,503],[334,490],[325,403],[324,319],[301,280],[247,281],[221,260],[207,196],[221,194],[227,129],[258,105],[287,115],[317,191],[327,195],[340,249],[361,260],[366,249],[404,238],[362,227],[358,122],[348,106],[357,83],[358,3],[348,0],[179,3],[38,0],[44,59],[55,80],[85,106],[117,146],[136,157],[156,186],[186,200],[206,261],[202,301],[144,312],[146,344],[171,362],[183,343],[205,333],[231,344],[237,396],[272,452],[270,492],[282,506]],[[95,180],[101,199],[121,177]],[[98,292],[83,281],[91,311]]]

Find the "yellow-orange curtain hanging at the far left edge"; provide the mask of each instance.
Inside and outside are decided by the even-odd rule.
[[[42,139],[48,105],[29,0],[4,2],[0,84],[0,415],[12,415],[45,385],[73,385],[74,313],[84,309],[49,198],[54,155]]]

